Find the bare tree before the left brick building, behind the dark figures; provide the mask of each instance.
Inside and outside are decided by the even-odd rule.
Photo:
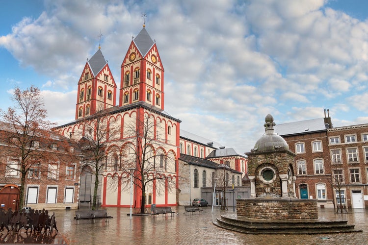
[[[46,120],[47,111],[37,87],[16,88],[11,99],[14,106],[0,113],[0,138],[5,146],[1,148],[1,158],[6,165],[5,176],[13,182],[20,178],[18,207],[21,210],[27,178],[47,174],[48,168],[43,163],[60,157],[60,153],[53,149],[63,148],[69,152],[69,144],[50,130],[54,124]]]

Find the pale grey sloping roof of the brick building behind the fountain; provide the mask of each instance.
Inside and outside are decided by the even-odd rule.
[[[291,134],[305,134],[317,131],[327,131],[328,124],[325,124],[324,118],[316,118],[311,120],[282,123],[274,126],[275,132],[280,136]]]

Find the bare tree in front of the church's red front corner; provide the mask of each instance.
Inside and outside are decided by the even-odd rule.
[[[145,213],[146,188],[156,188],[159,195],[164,192],[164,187],[175,188],[174,179],[168,177],[168,173],[175,174],[175,170],[169,172],[169,163],[175,164],[175,159],[170,159],[160,148],[164,148],[165,128],[155,123],[153,114],[137,114],[136,122],[129,125],[128,135],[132,144],[127,144],[125,161],[122,171],[130,172],[134,168],[133,180],[137,188],[142,192],[140,213]],[[172,169],[172,168],[171,168]],[[129,179],[125,180],[126,185]]]

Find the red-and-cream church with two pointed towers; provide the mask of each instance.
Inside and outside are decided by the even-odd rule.
[[[212,160],[214,165],[226,164],[233,184],[234,179],[245,175],[245,156],[233,148],[224,150],[218,143],[181,130],[181,121],[164,110],[164,98],[163,64],[156,42],[145,25],[132,39],[122,60],[119,90],[101,46],[87,60],[78,81],[75,121],[54,128],[76,141],[89,145],[93,142],[93,150],[103,149],[97,161],[98,174],[95,174],[96,168],[88,164],[93,162],[89,161],[93,157],[85,156],[81,161],[80,203],[90,202],[96,188],[98,202],[103,207],[130,206],[132,176],[133,207],[187,205],[187,202],[180,203],[181,195],[185,195],[180,183],[188,183],[186,189],[190,193],[191,189],[199,188],[198,182],[203,183],[203,187],[206,182],[213,185],[214,173],[210,171],[207,176],[192,169],[189,174],[181,174],[180,158],[184,155],[195,157],[199,162],[209,157],[206,161]],[[206,173],[209,165],[203,166]],[[184,175],[189,178],[182,177]],[[94,186],[96,178],[98,186]],[[241,183],[237,181],[237,185]],[[201,197],[200,192],[197,193],[193,198]]]

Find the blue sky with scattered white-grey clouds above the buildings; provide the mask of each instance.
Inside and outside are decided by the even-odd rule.
[[[102,52],[120,65],[142,29],[165,70],[165,111],[186,131],[250,152],[276,124],[368,123],[366,0],[0,0],[0,109],[42,90],[48,119],[75,119],[78,80]],[[20,7],[22,6],[22,7]]]

